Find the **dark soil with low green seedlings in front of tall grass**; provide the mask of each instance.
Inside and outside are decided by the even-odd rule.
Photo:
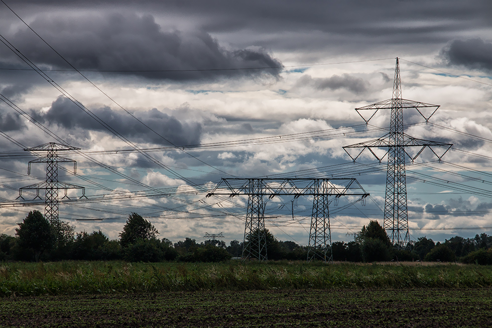
[[[2,327],[489,327],[492,290],[165,292],[0,299]]]

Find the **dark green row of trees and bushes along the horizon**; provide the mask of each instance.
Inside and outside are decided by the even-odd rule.
[[[50,224],[37,210],[29,212],[18,226],[15,236],[0,235],[0,261],[220,262],[241,257],[243,249],[243,242],[237,240],[227,246],[218,240],[197,243],[185,238],[173,244],[166,238],[158,239],[156,228],[137,213],[129,215],[116,240],[109,240],[101,231],[75,233],[75,227],[61,221]],[[280,241],[268,230],[265,234],[269,260],[307,259],[308,247]],[[492,236],[455,236],[444,243],[421,237],[406,247],[395,247],[383,227],[370,221],[354,241],[334,242],[326,251],[334,261],[459,261],[492,265]]]

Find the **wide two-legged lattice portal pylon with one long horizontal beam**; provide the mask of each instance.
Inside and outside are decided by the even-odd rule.
[[[332,259],[328,251],[331,249],[330,217],[328,205],[329,196],[357,196],[363,200],[369,194],[364,191],[357,180],[353,178],[311,179],[222,179],[212,195],[248,195],[248,210],[244,226],[244,244],[242,258],[267,260],[267,236],[265,229],[265,205],[263,197],[269,199],[275,196],[313,196],[313,211],[307,260]],[[357,201],[358,201],[357,200]]]

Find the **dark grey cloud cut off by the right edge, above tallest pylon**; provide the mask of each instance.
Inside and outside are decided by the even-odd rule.
[[[492,72],[492,43],[481,39],[454,40],[441,51],[448,65]]]

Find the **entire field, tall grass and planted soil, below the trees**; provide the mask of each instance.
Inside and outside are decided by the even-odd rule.
[[[0,326],[486,327],[492,267],[0,264]]]

